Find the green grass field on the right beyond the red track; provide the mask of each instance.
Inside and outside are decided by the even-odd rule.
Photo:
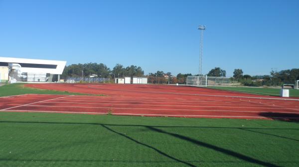
[[[269,95],[269,96],[279,96],[280,90],[277,88],[249,88],[249,87],[209,87],[213,89],[220,89],[220,90],[229,90],[229,91],[236,91],[236,92],[244,92],[244,93],[253,93],[258,95]],[[290,89],[290,97],[299,97],[299,90],[298,89]]]

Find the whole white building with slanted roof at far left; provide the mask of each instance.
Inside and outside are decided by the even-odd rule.
[[[59,81],[66,61],[0,57],[1,81]]]

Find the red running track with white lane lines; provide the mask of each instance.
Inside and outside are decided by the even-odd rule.
[[[20,95],[0,98],[0,111],[115,115],[299,119],[299,99],[169,85],[27,84],[106,96]]]

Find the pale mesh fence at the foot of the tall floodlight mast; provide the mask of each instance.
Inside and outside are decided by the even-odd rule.
[[[193,86],[229,86],[229,77],[187,76],[186,84]]]

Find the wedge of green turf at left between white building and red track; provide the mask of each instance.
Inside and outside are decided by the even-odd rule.
[[[35,89],[35,88],[25,87],[24,85],[25,85],[24,83],[14,83],[14,84],[6,84],[0,86],[0,97],[12,96],[12,95],[23,95],[23,94],[88,95],[82,93]]]

